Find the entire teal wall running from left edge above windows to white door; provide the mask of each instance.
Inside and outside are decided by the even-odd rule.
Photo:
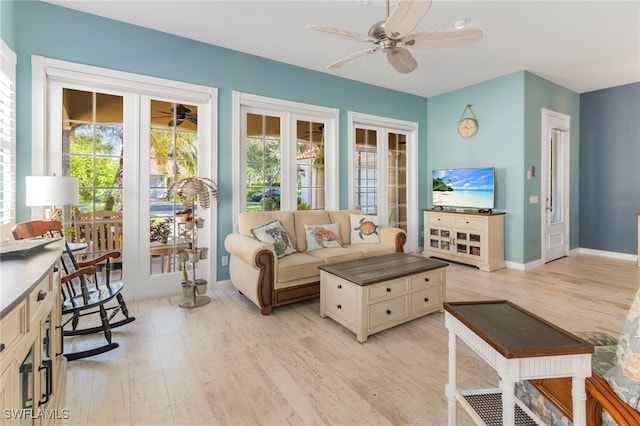
[[[225,253],[223,240],[232,230],[229,159],[234,90],[340,109],[341,208],[348,207],[344,177],[350,110],[418,123],[418,157],[424,165],[418,175],[420,209],[430,207],[432,169],[495,167],[496,210],[506,213],[505,258],[514,263],[541,256],[540,206],[528,202],[530,195],[540,194],[540,176],[526,179],[529,167],[540,168],[540,108],[568,114],[574,225],[570,244],[578,247],[580,97],[529,72],[519,71],[427,100],[42,2],[0,1],[0,22],[2,38],[18,55],[18,220],[29,218],[22,177],[31,171],[31,55],[35,54],[219,89],[219,255]],[[473,105],[480,123],[478,134],[471,139],[456,132],[467,104]],[[218,280],[228,278],[225,267],[218,265],[217,269]]]

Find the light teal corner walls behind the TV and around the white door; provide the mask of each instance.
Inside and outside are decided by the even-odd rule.
[[[461,138],[456,124],[467,104],[479,122],[476,136]],[[580,97],[526,71],[429,98],[427,168],[496,168],[496,211],[505,212],[505,258],[527,263],[541,258],[541,108],[571,116],[571,248],[578,246],[578,160]],[[427,179],[429,177],[427,176]],[[427,205],[431,188],[424,187]]]

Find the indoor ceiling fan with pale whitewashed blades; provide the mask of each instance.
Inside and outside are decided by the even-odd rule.
[[[431,0],[399,0],[393,9],[393,13],[389,15],[389,0],[387,0],[387,19],[373,24],[368,34],[355,33],[325,25],[307,25],[306,28],[372,44],[368,49],[355,52],[327,65],[328,69],[339,68],[342,65],[381,50],[387,54],[387,61],[396,71],[406,74],[415,70],[418,67],[418,63],[405,47],[421,49],[458,47],[471,44],[482,38],[482,31],[470,27],[450,31],[409,34],[430,8]]]

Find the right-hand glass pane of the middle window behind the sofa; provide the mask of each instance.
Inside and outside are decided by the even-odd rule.
[[[298,210],[323,210],[324,124],[301,120],[296,124]]]

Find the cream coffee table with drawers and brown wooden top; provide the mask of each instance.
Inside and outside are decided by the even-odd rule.
[[[320,266],[320,316],[367,337],[442,311],[449,264],[405,253]]]

